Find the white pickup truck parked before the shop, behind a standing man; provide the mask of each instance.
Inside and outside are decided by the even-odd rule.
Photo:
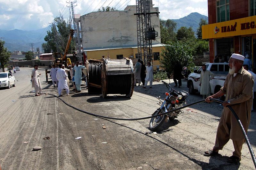
[[[205,65],[207,70],[214,73],[214,78],[210,80],[211,93],[214,94],[220,91],[220,88],[223,87],[228,75],[229,66],[228,63],[207,63]],[[188,75],[187,87],[190,94],[198,92],[200,73],[202,70],[202,67],[200,67],[198,70],[195,70],[193,73]]]

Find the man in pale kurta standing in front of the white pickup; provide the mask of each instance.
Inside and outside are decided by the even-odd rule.
[[[206,99],[208,96],[211,95],[211,85],[210,80],[214,78],[214,74],[206,70],[206,65],[202,65],[202,71],[200,76],[200,94],[203,95],[203,99]]]

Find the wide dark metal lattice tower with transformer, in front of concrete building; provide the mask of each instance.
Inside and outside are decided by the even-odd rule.
[[[151,62],[153,60],[152,53],[152,38],[149,34],[153,31],[151,27],[151,14],[160,12],[150,12],[151,0],[136,0],[136,14],[137,15],[137,40],[138,40],[138,58],[144,59],[144,63]],[[154,30],[155,31],[155,30]],[[154,38],[153,38],[154,39]]]

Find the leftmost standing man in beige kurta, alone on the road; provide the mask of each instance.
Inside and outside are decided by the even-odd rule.
[[[32,70],[32,73],[31,73],[31,78],[32,78],[32,87],[35,88],[35,96],[40,96],[40,94],[42,94],[42,87],[41,87],[41,82],[39,78],[41,74],[37,72],[37,69],[38,69],[38,65],[35,64],[34,69]]]

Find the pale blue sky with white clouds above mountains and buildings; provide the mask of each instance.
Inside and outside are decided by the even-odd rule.
[[[123,10],[127,5],[135,5],[136,0],[77,0],[75,4],[75,13],[84,15],[97,11],[102,5]],[[207,0],[153,0],[153,4],[159,8],[162,19],[179,19],[191,12],[208,16]],[[66,0],[0,0],[0,29],[37,30],[47,27],[60,13],[64,18],[69,17],[67,6]]]

